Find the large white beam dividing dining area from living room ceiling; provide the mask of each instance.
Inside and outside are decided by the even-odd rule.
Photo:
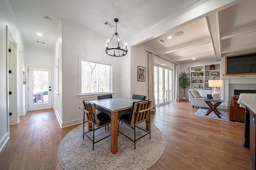
[[[164,33],[186,25],[200,18],[208,16],[210,12],[218,12],[235,4],[238,4],[240,0],[204,0],[202,4],[193,6],[191,9],[166,18],[166,20],[159,22],[138,34],[128,39],[128,43],[131,46],[140,45],[150,39],[163,35]]]

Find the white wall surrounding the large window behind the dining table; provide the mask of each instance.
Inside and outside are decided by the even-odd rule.
[[[96,95],[78,96],[78,55],[85,59],[112,64],[113,92],[115,97],[120,96],[122,57],[106,55],[105,44],[106,39],[62,21],[62,80],[59,84],[62,86],[62,110],[58,109],[60,117],[62,115],[61,127],[82,122],[83,114],[78,109],[82,106],[82,99],[96,100]]]

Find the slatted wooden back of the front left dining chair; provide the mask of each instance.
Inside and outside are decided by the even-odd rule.
[[[84,109],[86,110],[85,113],[86,113],[87,120],[90,123],[94,124],[93,119],[95,117],[95,125],[96,127],[100,127],[98,122],[98,117],[96,115],[95,104],[87,100],[83,100],[83,104],[84,104]]]

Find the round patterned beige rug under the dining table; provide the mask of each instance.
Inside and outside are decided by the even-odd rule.
[[[138,125],[145,129],[145,123]],[[133,139],[134,130],[127,125],[120,124],[120,131]],[[87,124],[85,131],[87,131]],[[110,135],[111,125],[95,131],[95,140]],[[145,132],[136,128],[136,139]],[[92,137],[92,132],[88,133]],[[162,132],[151,124],[151,139],[149,135],[134,143],[119,133],[118,152],[112,154],[111,137],[94,144],[88,137],[83,139],[83,125],[70,131],[60,142],[58,157],[65,170],[146,170],[154,165],[164,152],[165,141]]]

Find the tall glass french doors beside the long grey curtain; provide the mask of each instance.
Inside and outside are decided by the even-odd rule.
[[[156,106],[161,106],[170,103],[173,100],[172,69],[155,65],[154,80]]]

